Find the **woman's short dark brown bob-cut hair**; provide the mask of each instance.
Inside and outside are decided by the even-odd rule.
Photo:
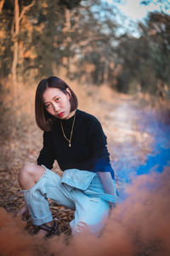
[[[68,94],[68,91],[66,90],[68,88],[71,91],[71,111],[77,109],[78,105],[76,94],[71,90],[70,86],[65,83],[65,81],[54,76],[49,77],[48,79],[42,79],[42,81],[37,85],[35,101],[36,121],[38,127],[42,129],[42,131],[50,131],[54,124],[54,120],[56,119],[44,108],[42,95],[47,88],[58,88],[65,94]]]

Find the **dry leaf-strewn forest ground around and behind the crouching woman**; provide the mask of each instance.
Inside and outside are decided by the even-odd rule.
[[[85,88],[86,89],[86,88]],[[80,109],[94,114],[101,122],[107,136],[108,148],[111,154],[111,164],[116,172],[117,189],[122,187],[144,165],[148,155],[153,152],[156,134],[149,128],[150,114],[156,117],[156,109],[146,107],[136,96],[127,96],[113,92],[105,86],[98,94],[92,89],[88,96],[82,90]],[[42,131],[38,130],[33,117],[33,104],[24,115],[24,124],[12,131],[9,139],[1,135],[0,149],[0,207],[13,213],[24,204],[23,194],[17,182],[20,167],[26,162],[36,162],[42,147]],[[25,106],[26,107],[26,106]],[[22,115],[19,115],[22,118]],[[159,122],[159,118],[155,122]],[[55,164],[54,172],[61,173]],[[54,219],[59,224],[60,233],[70,232],[69,222],[73,212],[53,202],[50,207]],[[31,218],[26,221],[26,229],[32,233]]]

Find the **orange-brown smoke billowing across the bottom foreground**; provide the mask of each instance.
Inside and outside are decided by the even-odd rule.
[[[127,200],[111,212],[98,238],[87,231],[65,245],[63,236],[44,241],[26,234],[23,222],[0,210],[2,255],[168,256],[170,255],[170,183],[167,168],[133,178]]]

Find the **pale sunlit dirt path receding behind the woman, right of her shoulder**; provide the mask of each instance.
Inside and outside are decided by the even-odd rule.
[[[108,137],[111,163],[117,183],[125,183],[152,151],[155,137],[142,125],[147,119],[139,102],[132,96],[120,95],[114,104],[105,105],[104,129]]]

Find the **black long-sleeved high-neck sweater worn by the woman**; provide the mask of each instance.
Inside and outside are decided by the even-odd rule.
[[[71,136],[73,119],[74,116],[62,120],[67,138]],[[63,136],[60,120],[56,119],[52,130],[43,132],[43,148],[37,164],[52,169],[54,160],[57,160],[62,171],[75,168],[91,172],[111,172],[114,178],[106,145],[105,133],[99,120],[77,109],[71,148]]]

